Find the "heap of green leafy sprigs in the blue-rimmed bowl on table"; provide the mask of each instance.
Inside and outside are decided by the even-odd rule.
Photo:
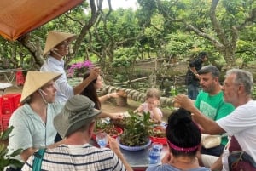
[[[150,120],[150,113],[143,112],[138,115],[129,111],[124,133],[120,135],[120,143],[127,146],[140,146],[147,144],[153,122]]]

